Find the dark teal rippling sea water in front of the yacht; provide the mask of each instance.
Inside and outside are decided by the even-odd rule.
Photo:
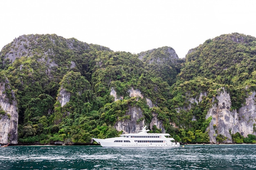
[[[255,170],[256,145],[180,148],[9,146],[0,170]]]

